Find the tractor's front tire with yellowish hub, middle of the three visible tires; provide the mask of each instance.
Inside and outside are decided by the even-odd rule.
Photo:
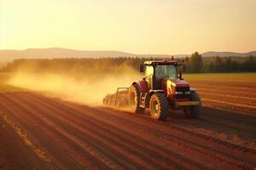
[[[165,94],[153,94],[149,103],[150,115],[160,121],[166,120],[169,115],[168,99]]]

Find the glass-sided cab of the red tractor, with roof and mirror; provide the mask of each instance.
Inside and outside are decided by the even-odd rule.
[[[163,78],[177,79],[177,66],[177,60],[146,61],[140,71],[144,72],[145,68],[144,80],[148,82],[148,89],[158,90],[161,89]]]

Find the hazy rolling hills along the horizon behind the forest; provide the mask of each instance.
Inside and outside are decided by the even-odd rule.
[[[245,57],[248,55],[256,56],[256,51],[249,53],[234,52],[206,52],[203,57],[212,56],[233,56]],[[177,54],[176,57],[190,56],[190,54]],[[121,51],[88,51],[74,50],[67,48],[28,48],[25,50],[0,50],[0,61],[9,62],[13,59],[54,59],[54,58],[102,58],[102,57],[171,57],[171,54],[130,54]]]

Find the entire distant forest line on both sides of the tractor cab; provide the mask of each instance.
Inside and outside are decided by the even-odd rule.
[[[15,59],[3,67],[4,72],[32,71],[51,73],[120,73],[133,69],[138,71],[145,60],[160,58],[101,58],[101,59]],[[256,57],[201,57],[195,52],[190,57],[177,59],[183,61],[183,71],[187,73],[201,72],[253,72],[256,71]]]

